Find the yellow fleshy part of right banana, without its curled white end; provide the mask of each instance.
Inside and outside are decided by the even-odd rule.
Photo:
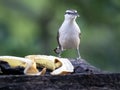
[[[56,68],[61,66],[61,62],[56,60],[55,56],[47,56],[47,55],[28,55],[25,58],[34,60],[37,63],[38,67],[46,67],[50,70],[55,70]]]

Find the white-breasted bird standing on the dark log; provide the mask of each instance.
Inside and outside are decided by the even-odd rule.
[[[58,57],[61,57],[62,52],[66,49],[76,49],[78,53],[77,59],[81,58],[79,51],[81,30],[76,23],[77,17],[79,17],[77,10],[65,11],[64,21],[57,33],[58,46],[54,49]]]

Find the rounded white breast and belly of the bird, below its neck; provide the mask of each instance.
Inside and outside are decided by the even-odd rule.
[[[63,48],[77,47],[79,43],[79,33],[74,26],[62,28],[59,34],[59,41]]]

